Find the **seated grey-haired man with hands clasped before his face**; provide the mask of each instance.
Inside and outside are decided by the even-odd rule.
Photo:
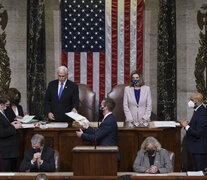
[[[20,165],[21,172],[55,171],[54,150],[44,146],[44,141],[44,137],[40,134],[32,137],[32,148],[24,153],[24,159]]]

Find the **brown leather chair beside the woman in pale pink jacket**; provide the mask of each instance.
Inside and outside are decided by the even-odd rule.
[[[123,97],[124,97],[124,88],[126,84],[119,84],[114,86],[114,88],[107,94],[107,96],[113,99],[116,103],[116,106],[113,110],[113,115],[118,122],[125,122],[125,115],[123,110]]]

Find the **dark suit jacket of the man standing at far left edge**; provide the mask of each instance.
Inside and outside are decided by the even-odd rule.
[[[16,158],[19,141],[16,129],[0,112],[0,154],[2,158]]]

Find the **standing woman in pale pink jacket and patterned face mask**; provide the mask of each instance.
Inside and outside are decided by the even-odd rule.
[[[148,126],[152,111],[151,91],[137,70],[131,73],[130,85],[124,89],[123,107],[127,126]]]

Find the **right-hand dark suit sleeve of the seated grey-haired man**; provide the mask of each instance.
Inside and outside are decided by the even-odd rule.
[[[48,151],[48,158],[47,160],[43,159],[42,165],[40,165],[40,171],[45,172],[54,172],[55,171],[55,159],[54,159],[54,150]]]

